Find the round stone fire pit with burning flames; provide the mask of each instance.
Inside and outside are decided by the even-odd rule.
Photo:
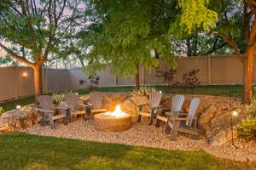
[[[131,116],[121,111],[120,105],[113,112],[104,112],[94,116],[96,130],[119,132],[131,127]]]

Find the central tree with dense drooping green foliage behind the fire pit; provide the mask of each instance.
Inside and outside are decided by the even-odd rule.
[[[176,67],[169,33],[176,6],[177,1],[165,0],[90,0],[90,25],[80,32],[90,47],[86,71],[93,74],[111,65],[117,75],[136,75],[139,88],[139,65],[154,67],[160,58]]]

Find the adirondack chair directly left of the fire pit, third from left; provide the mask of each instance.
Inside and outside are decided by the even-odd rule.
[[[101,113],[107,111],[106,109],[102,108],[102,99],[103,95],[101,93],[91,93],[90,94],[90,116],[93,116],[93,114]]]

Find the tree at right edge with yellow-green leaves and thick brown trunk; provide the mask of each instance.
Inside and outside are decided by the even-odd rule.
[[[254,55],[256,50],[256,2],[253,0],[194,0],[193,3],[200,3],[194,8],[189,8],[188,4],[181,1],[181,8],[183,13],[189,18],[183,18],[183,25],[188,31],[193,31],[197,27],[201,27],[204,20],[197,20],[196,12],[199,10],[210,10],[212,13],[218,14],[218,19],[212,18],[210,21],[215,22],[214,25],[208,29],[209,31],[216,31],[224,41],[229,43],[234,48],[238,59],[241,60],[244,66],[243,77],[243,101],[251,103],[253,98],[253,71],[254,71]],[[241,15],[242,14],[242,15]],[[242,19],[240,20],[240,17]],[[241,21],[241,23],[240,23]],[[244,37],[245,55],[241,55],[241,50],[236,42],[235,35],[241,33]]]

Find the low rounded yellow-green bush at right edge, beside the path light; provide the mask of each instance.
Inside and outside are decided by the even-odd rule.
[[[237,127],[238,136],[247,140],[256,140],[256,118],[245,119]]]

